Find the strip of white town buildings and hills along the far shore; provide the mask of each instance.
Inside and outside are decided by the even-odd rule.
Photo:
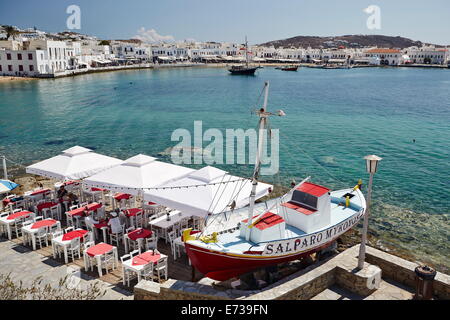
[[[102,40],[64,31],[0,26],[0,75],[58,77],[159,64],[312,63],[346,65],[450,64],[449,49],[401,37],[296,37],[250,46],[232,42]],[[302,40],[303,39],[303,40]],[[306,40],[305,40],[306,39]],[[283,42],[284,41],[284,42]],[[293,44],[296,44],[294,46]],[[320,48],[318,48],[318,46]]]

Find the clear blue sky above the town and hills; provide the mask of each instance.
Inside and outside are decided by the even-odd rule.
[[[125,39],[140,28],[175,40],[249,43],[297,35],[384,34],[450,45],[448,0],[0,0],[0,24],[66,30],[66,8],[81,8],[81,30]],[[369,30],[369,5],[381,9],[381,29]]]

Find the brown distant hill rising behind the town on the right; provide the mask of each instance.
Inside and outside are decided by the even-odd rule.
[[[275,48],[338,48],[344,46],[346,48],[362,48],[377,46],[380,48],[398,48],[403,49],[411,46],[422,46],[425,43],[414,41],[403,37],[390,37],[382,35],[345,35],[336,37],[308,37],[297,36],[284,40],[269,41],[260,44],[260,46],[274,46]],[[436,45],[436,47],[439,47]]]

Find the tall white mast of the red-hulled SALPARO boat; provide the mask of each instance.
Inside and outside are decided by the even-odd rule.
[[[258,185],[258,176],[259,176],[259,169],[261,167],[261,157],[262,157],[262,150],[263,150],[263,144],[264,144],[264,130],[267,127],[267,117],[269,114],[266,112],[267,109],[267,98],[269,95],[269,82],[266,81],[264,83],[265,92],[264,92],[264,104],[263,107],[258,111],[259,115],[259,132],[258,132],[258,151],[256,153],[256,160],[255,160],[255,170],[253,171],[253,178],[252,178],[252,191],[250,193],[250,206],[248,209],[248,219],[247,219],[247,232],[245,234],[245,239],[248,241],[250,239],[250,233],[251,233],[251,227],[253,224],[253,210],[255,207],[255,196],[256,196],[256,187]]]

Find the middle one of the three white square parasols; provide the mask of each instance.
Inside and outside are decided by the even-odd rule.
[[[184,177],[194,170],[171,163],[156,161],[156,158],[139,154],[83,181],[85,185],[105,188],[132,195],[142,194],[151,188]]]

